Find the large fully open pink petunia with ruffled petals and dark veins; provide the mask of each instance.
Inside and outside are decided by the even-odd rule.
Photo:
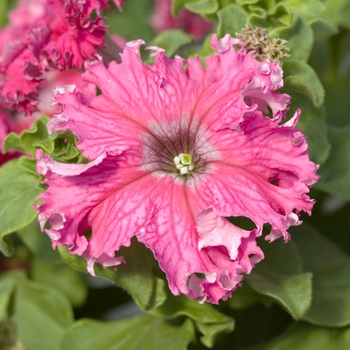
[[[92,161],[61,164],[38,152],[48,185],[38,220],[53,247],[83,256],[92,275],[95,263],[124,263],[118,250],[136,236],[175,295],[218,303],[264,257],[256,237],[265,223],[267,239],[287,241],[298,213],[310,214],[306,193],[318,176],[295,128],[300,112],[281,124],[289,104],[275,92],[281,67],[258,62],[229,35],[213,36],[218,55],[205,69],[199,58],[170,59],[157,47],[146,65],[141,44],[127,43],[121,64],[86,64],[99,96],[74,85],[56,90],[62,110],[49,132],[71,129]],[[256,228],[243,230],[230,216]]]

